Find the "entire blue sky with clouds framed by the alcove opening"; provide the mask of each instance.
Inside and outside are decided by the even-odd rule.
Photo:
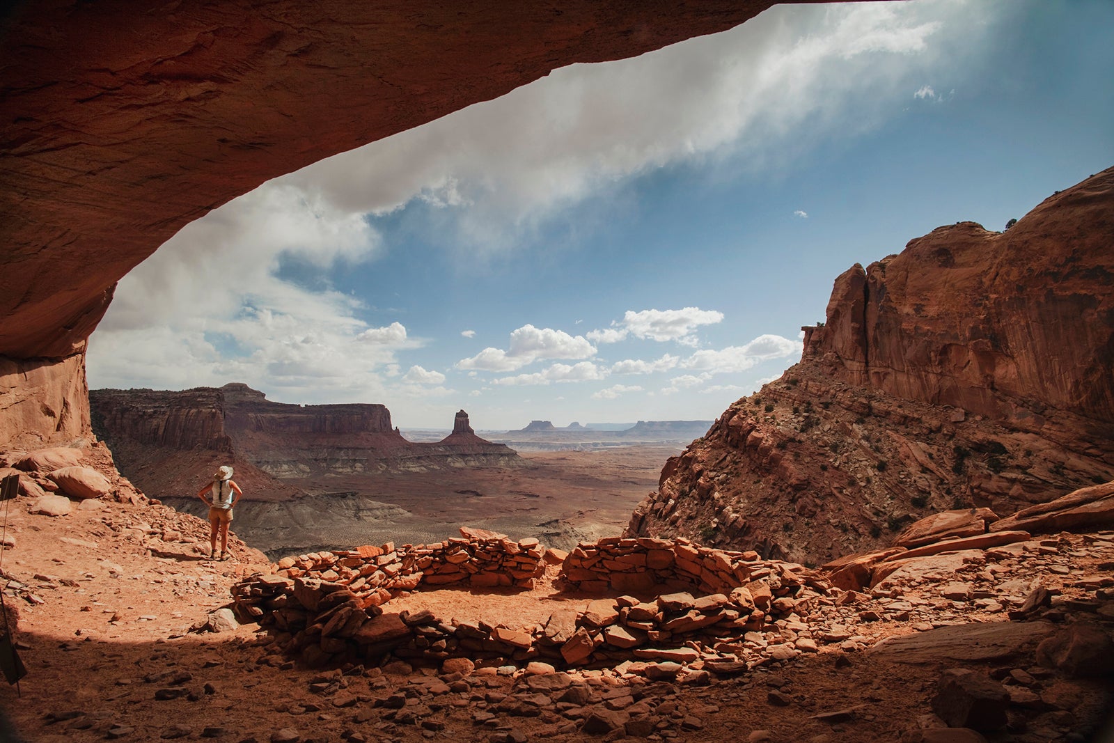
[[[853,263],[1114,165],[1112,28],[1105,0],[781,7],[556,70],[187,225],[120,282],[90,387],[715,418]]]

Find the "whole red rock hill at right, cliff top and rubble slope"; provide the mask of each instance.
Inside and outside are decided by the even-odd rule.
[[[670,459],[627,532],[822,561],[1111,480],[1112,287],[1114,168],[853,266],[801,362]]]

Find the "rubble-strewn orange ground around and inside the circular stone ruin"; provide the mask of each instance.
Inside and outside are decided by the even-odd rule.
[[[1035,649],[1069,628],[1077,644],[1086,628],[1110,642],[1114,532],[931,556],[873,589],[833,589],[747,637],[754,662],[731,675],[700,661],[664,673],[463,659],[322,671],[274,653],[255,625],[190,630],[237,579],[270,569],[255,550],[237,542],[234,560],[211,561],[207,525],[159,505],[85,501],[96,505],[49,517],[29,502],[4,504],[0,554],[28,668],[0,700],[27,741],[978,741],[936,716],[957,714],[974,687],[1005,714],[986,740],[1114,740],[1102,726],[1110,676],[1087,675],[1088,663],[1110,672],[1108,645],[1061,663]],[[420,592],[390,606],[521,628],[596,598],[559,592],[554,576],[524,593]],[[1036,588],[1047,593],[1033,599]],[[792,652],[763,652],[773,646]]]

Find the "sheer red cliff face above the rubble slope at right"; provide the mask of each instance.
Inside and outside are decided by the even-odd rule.
[[[1027,426],[1027,400],[1114,420],[1114,170],[1013,228],[940,227],[836,280],[805,359],[899,398]]]

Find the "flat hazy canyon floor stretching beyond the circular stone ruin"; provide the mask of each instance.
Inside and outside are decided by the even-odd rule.
[[[619,534],[638,501],[657,488],[662,465],[680,451],[677,446],[639,446],[527,452],[528,466],[520,468],[290,480],[311,492],[335,495],[258,502],[245,493],[233,529],[272,559],[385,541],[431,544],[459,536],[461,526],[571,549],[582,540]],[[162,499],[203,516],[196,498]]]

